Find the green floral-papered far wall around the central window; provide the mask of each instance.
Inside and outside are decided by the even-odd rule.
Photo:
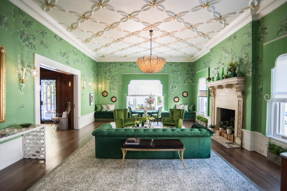
[[[151,79],[150,76],[161,79],[163,74],[168,74],[167,92],[165,96],[165,110],[174,108],[175,104],[195,104],[193,102],[193,91],[194,91],[194,64],[193,63],[181,63],[181,62],[167,62],[164,68],[156,74],[144,74],[135,62],[99,62],[97,72],[99,75],[98,82],[101,83],[101,87],[97,87],[97,104],[108,104],[111,102],[111,97],[116,96],[117,102],[115,102],[115,108],[126,108],[123,104],[124,89],[127,89],[123,74],[140,74],[135,75],[135,80],[141,76],[141,79]],[[125,83],[123,83],[125,81]],[[125,86],[125,87],[123,87]],[[123,89],[123,90],[122,90]],[[108,91],[108,96],[103,97],[102,92]],[[182,93],[188,92],[188,96],[184,98]],[[147,94],[150,92],[146,92]],[[179,102],[175,103],[173,98],[179,97]]]

